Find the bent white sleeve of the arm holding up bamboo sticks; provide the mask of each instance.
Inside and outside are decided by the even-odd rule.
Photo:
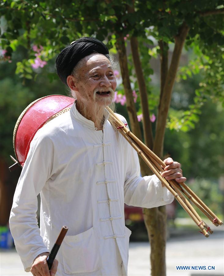
[[[128,166],[125,177],[124,195],[127,205],[144,208],[158,207],[171,203],[174,196],[155,176],[140,177],[140,165],[136,151],[129,146]]]

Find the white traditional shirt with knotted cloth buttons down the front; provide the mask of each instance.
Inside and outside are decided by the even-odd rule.
[[[131,231],[124,203],[152,208],[173,199],[155,175],[140,177],[137,153],[108,120],[97,130],[74,103],[35,134],[15,191],[10,230],[25,271],[51,250],[66,225],[56,275],[127,275]]]

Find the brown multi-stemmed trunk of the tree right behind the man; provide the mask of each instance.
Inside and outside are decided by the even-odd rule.
[[[165,135],[165,127],[166,127],[166,119],[168,115],[168,110],[170,107],[172,88],[174,85],[177,68],[181,56],[181,51],[184,45],[184,41],[186,35],[188,33],[188,27],[185,23],[181,26],[179,30],[179,34],[175,38],[175,48],[172,56],[170,68],[168,71],[168,54],[167,54],[167,45],[160,41],[161,47],[161,89],[160,89],[160,103],[157,114],[157,124],[156,124],[156,135],[154,141],[153,151],[159,157],[162,157],[163,154],[163,142]],[[138,78],[139,87],[141,87],[141,91],[146,91],[144,87],[144,77],[141,69],[141,63],[138,53],[136,53],[136,41],[132,39],[132,52],[133,52],[133,60],[136,68],[136,75]],[[127,66],[127,56],[124,39],[122,34],[119,34],[117,37],[116,47],[118,50],[119,61],[121,66],[121,75],[123,79],[123,85],[125,89],[125,95],[127,99],[127,109],[129,114],[129,119],[131,122],[131,126],[133,129],[133,133],[141,139],[140,135],[140,127],[137,122],[136,110],[133,101],[132,89],[130,86],[129,74],[128,74],[128,66]],[[138,74],[137,74],[138,72]],[[144,107],[144,112],[147,114],[146,98],[144,98],[144,92],[141,95],[142,108]],[[146,115],[149,118],[148,115]],[[147,126],[144,126],[146,129]],[[138,134],[139,133],[139,134]],[[144,131],[144,134],[146,132]],[[140,135],[140,136],[138,136]],[[148,134],[146,135],[147,143],[151,143],[152,139],[148,138]],[[150,134],[151,135],[151,134]],[[151,140],[150,140],[151,139]],[[150,142],[149,142],[150,141]],[[142,160],[140,159],[141,172],[145,175],[148,172],[148,168],[145,168],[145,163],[142,164]],[[166,208],[165,206],[161,206],[159,208],[151,208],[143,210],[144,221],[146,224],[148,236],[151,243],[151,275],[152,276],[164,276],[166,275],[166,262],[165,262],[165,251],[166,251]]]

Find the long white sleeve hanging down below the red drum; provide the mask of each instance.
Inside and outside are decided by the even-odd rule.
[[[36,136],[35,136],[36,137]],[[36,219],[37,195],[50,177],[53,145],[47,137],[34,138],[13,198],[9,225],[25,271],[47,248]]]

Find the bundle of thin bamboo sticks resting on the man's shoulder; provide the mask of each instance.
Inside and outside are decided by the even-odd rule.
[[[147,146],[144,145],[127,127],[126,125],[118,118],[118,116],[109,108],[106,107],[107,111],[110,113],[109,121],[120,133],[121,135],[131,144],[131,146],[137,151],[140,157],[145,161],[151,171],[159,178],[162,184],[174,195],[176,200],[181,204],[185,211],[189,214],[192,220],[200,228],[200,232],[205,236],[209,237],[209,234],[212,234],[213,231],[210,227],[205,224],[205,222],[200,218],[198,213],[192,207],[190,202],[192,201],[205,216],[215,225],[222,225],[222,221],[203,203],[202,200],[185,184],[178,183],[175,180],[166,180],[161,176],[161,173],[164,171],[163,168],[166,167],[166,164],[154,154]],[[186,197],[187,198],[186,198]]]

